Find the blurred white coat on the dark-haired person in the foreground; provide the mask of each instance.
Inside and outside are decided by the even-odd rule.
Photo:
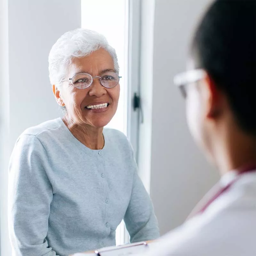
[[[236,178],[234,171],[225,174],[193,212]],[[256,172],[239,175],[203,213],[150,247],[146,255],[256,256]]]

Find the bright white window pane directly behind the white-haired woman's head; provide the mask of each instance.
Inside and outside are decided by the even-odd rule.
[[[128,8],[126,0],[82,0],[81,26],[104,35],[115,48],[120,67],[120,99],[107,127],[127,135]]]

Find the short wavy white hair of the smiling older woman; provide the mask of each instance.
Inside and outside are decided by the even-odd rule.
[[[92,52],[104,48],[114,61],[114,68],[119,72],[116,51],[108,44],[105,36],[84,28],[66,32],[52,46],[49,53],[49,77],[51,84],[59,84],[73,58],[83,58]]]

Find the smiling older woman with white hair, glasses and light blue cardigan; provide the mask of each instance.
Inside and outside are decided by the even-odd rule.
[[[115,50],[86,29],[65,33],[49,55],[52,91],[65,116],[28,128],[10,162],[15,255],[53,256],[159,236],[150,198],[123,133],[103,129],[118,105]]]

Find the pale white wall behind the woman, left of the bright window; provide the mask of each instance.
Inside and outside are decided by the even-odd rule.
[[[7,0],[4,0],[6,3]],[[9,10],[8,10],[9,9]],[[61,115],[48,78],[48,54],[55,41],[66,31],[81,27],[80,0],[9,0],[5,4],[9,20],[9,81],[1,66],[1,95],[6,103],[1,116],[5,127],[4,160],[1,163],[1,255],[11,255],[7,231],[7,165],[13,145],[26,128]],[[6,23],[5,23],[6,24]],[[6,35],[4,29],[1,36]],[[2,47],[2,45],[1,45]],[[8,51],[7,46],[5,49]],[[7,54],[6,54],[7,55]],[[4,70],[5,68],[5,70]],[[9,83],[8,83],[9,82]],[[7,86],[9,84],[9,87]],[[7,89],[6,89],[7,88]],[[9,137],[7,136],[8,128]],[[3,128],[2,128],[3,131]],[[7,138],[8,137],[8,138]]]

